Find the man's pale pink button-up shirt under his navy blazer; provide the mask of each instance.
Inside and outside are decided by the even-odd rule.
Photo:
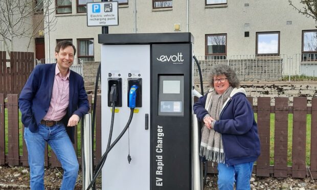
[[[66,77],[62,77],[58,66],[55,67],[55,79],[53,84],[52,99],[48,113],[43,120],[60,121],[67,112],[70,94],[70,69]]]

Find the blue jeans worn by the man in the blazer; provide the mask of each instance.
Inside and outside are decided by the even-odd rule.
[[[31,189],[44,189],[44,151],[46,143],[60,161],[64,170],[60,189],[74,189],[78,176],[79,164],[74,147],[63,124],[52,127],[38,125],[39,131],[32,133],[25,128],[24,139],[29,153]]]

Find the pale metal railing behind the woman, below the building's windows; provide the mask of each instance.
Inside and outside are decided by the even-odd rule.
[[[232,66],[241,81],[317,79],[317,54],[289,55],[233,55],[196,56],[202,78],[208,79],[211,67],[216,64]],[[198,69],[194,67],[194,78],[198,79]]]

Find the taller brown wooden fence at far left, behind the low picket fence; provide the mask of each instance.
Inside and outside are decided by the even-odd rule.
[[[34,68],[34,53],[0,51],[0,93],[19,94]]]

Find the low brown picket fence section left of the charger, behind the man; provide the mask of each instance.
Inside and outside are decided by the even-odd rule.
[[[88,95],[89,106],[91,112],[92,110],[92,95]],[[5,154],[5,109],[7,109],[7,152]],[[5,101],[5,96],[3,93],[0,93],[0,165],[9,164],[9,165],[24,165],[28,166],[28,151],[25,145],[23,136],[19,135],[24,134],[24,126],[22,130],[19,130],[19,111],[18,111],[18,96],[17,94],[8,94],[7,101]],[[75,131],[80,130],[80,126],[76,126]],[[19,138],[22,138],[22,154],[19,154]],[[97,97],[97,107],[96,107],[96,151],[95,151],[95,164],[101,158],[101,96]],[[74,149],[77,152],[77,133],[75,133],[75,144]],[[61,167],[59,161],[57,160],[56,155],[53,151],[50,152],[48,146],[46,147],[46,153],[44,154],[45,166],[46,167]],[[78,162],[81,164],[81,157],[78,157]]]

